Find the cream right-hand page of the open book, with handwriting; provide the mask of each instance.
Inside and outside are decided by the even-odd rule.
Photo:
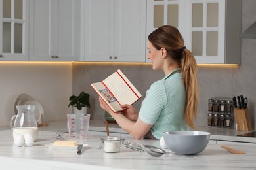
[[[125,79],[127,79],[126,76]],[[123,80],[123,78],[117,72],[108,76],[108,78],[106,78],[102,82],[106,85],[106,87],[108,87],[108,90],[110,90],[110,92],[116,97],[120,105],[131,105],[139,99],[139,97],[135,95],[133,90],[131,90],[131,86],[128,86],[127,82],[125,82],[125,80]],[[132,87],[134,88],[134,86]]]

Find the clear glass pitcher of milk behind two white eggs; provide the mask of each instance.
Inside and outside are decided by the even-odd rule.
[[[35,114],[33,114],[35,106],[18,105],[16,106],[16,108],[18,110],[18,114],[12,116],[10,121],[10,127],[12,129],[13,138],[17,134],[25,135],[26,133],[30,133],[30,135],[32,135],[35,141],[38,135],[37,120],[35,120]],[[14,125],[12,126],[13,121]]]

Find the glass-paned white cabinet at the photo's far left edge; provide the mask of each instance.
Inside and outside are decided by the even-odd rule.
[[[0,61],[28,61],[28,0],[0,0]]]

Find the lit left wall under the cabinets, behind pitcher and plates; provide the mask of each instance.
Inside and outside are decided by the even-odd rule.
[[[14,102],[21,93],[39,101],[44,120],[66,118],[72,95],[72,63],[0,62],[0,126],[9,125]]]

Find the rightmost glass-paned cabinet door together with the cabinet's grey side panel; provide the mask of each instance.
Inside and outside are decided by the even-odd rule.
[[[186,2],[186,47],[198,63],[240,64],[241,0]]]

